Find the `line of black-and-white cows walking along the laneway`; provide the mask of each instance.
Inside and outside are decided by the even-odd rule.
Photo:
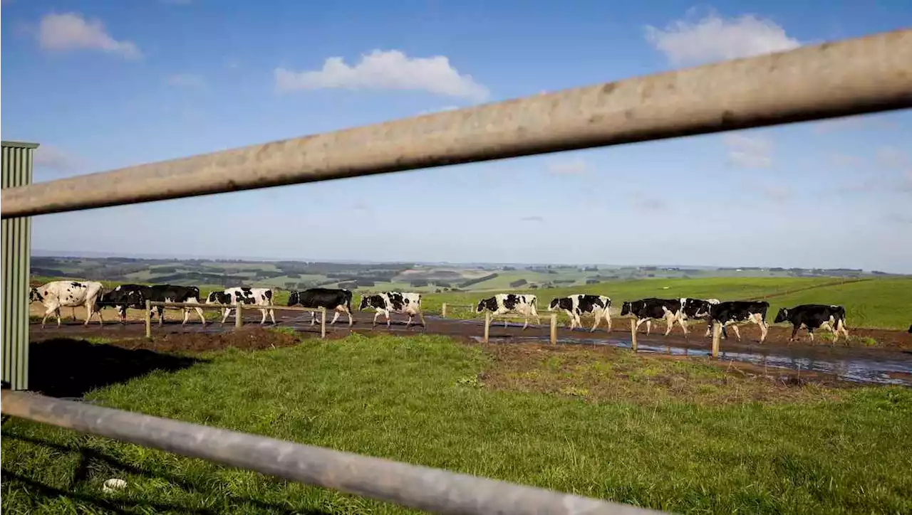
[[[41,319],[41,326],[45,326],[47,318],[55,314],[57,316],[57,326],[60,326],[60,308],[85,307],[86,322],[94,315],[98,315],[98,323],[103,324],[101,318],[102,308],[114,308],[118,313],[121,323],[126,323],[127,309],[137,308],[144,309],[146,301],[166,302],[166,303],[184,303],[184,304],[201,304],[218,305],[222,308],[222,323],[229,317],[233,307],[238,305],[252,306],[258,308],[263,315],[260,324],[264,324],[267,315],[275,324],[275,315],[272,307],[275,306],[274,292],[271,288],[227,288],[223,291],[213,291],[205,299],[201,298],[200,288],[171,286],[171,285],[137,285],[124,284],[106,291],[100,282],[96,281],[73,281],[58,280],[51,281],[37,288],[31,288],[29,292],[30,302],[41,302],[45,308],[44,318]],[[529,294],[499,293],[489,298],[479,300],[474,311],[476,313],[490,312],[492,317],[505,315],[518,315],[524,318],[523,330],[529,325],[529,318],[534,318],[536,323],[541,323],[537,312],[537,297]],[[288,296],[287,305],[301,306],[304,308],[325,308],[326,311],[333,311],[334,316],[331,324],[335,324],[340,315],[345,314],[348,317],[348,326],[354,322],[352,320],[352,292],[341,288],[309,288],[303,291],[292,291]],[[424,316],[421,313],[421,294],[420,293],[401,293],[387,291],[375,294],[366,294],[362,296],[358,310],[366,308],[373,309],[373,324],[377,325],[377,318],[385,316],[387,326],[389,327],[389,315],[399,313],[409,316],[406,323],[408,328],[414,317],[419,317],[421,325],[426,327]],[[639,300],[626,301],[621,306],[622,317],[633,317],[637,319],[635,330],[644,322],[646,323],[646,332],[649,334],[652,328],[653,320],[664,319],[666,322],[665,335],[671,332],[671,329],[677,323],[688,334],[688,320],[703,320],[707,324],[705,337],[710,336],[713,323],[721,326],[722,338],[728,338],[725,328],[731,327],[735,331],[735,336],[741,340],[741,332],[738,327],[742,324],[753,323],[761,330],[762,342],[768,332],[766,322],[766,311],[770,304],[766,301],[746,301],[731,300],[722,302],[716,298],[642,298]],[[174,309],[174,308],[171,308]],[[191,309],[195,309],[200,317],[202,325],[205,325],[206,319],[203,316],[202,308],[181,307],[183,310],[183,322],[186,324],[190,317]],[[606,320],[607,330],[611,330],[611,298],[606,296],[576,294],[563,298],[554,298],[548,306],[549,311],[563,311],[570,318],[570,329],[582,327],[580,322],[581,315],[592,315],[595,318],[590,331],[595,331],[602,318]],[[164,308],[162,306],[152,306],[150,316],[157,315],[159,325],[164,323]],[[773,323],[790,322],[793,326],[793,340],[798,329],[805,328],[814,339],[814,330],[818,328],[827,328],[835,339],[842,334],[848,338],[848,330],[845,328],[845,308],[842,306],[823,305],[823,304],[803,304],[794,308],[781,308],[776,314]],[[316,323],[316,312],[311,312],[311,325]],[[506,320],[504,319],[504,327]],[[909,331],[912,333],[912,327]]]

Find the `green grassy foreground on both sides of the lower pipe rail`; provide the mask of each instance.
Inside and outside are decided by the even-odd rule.
[[[912,512],[908,389],[773,387],[693,359],[620,349],[520,356],[503,354],[505,347],[353,335],[228,349],[88,398],[660,510]],[[109,478],[129,485],[104,494]],[[0,425],[0,506],[4,513],[403,511],[18,419]]]

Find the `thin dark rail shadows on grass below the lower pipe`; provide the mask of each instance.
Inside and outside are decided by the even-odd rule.
[[[2,425],[0,421],[0,425]],[[0,469],[0,483],[7,482],[18,482],[19,484],[26,487],[30,490],[29,494],[32,496],[33,500],[36,500],[37,496],[43,496],[47,499],[52,499],[56,497],[67,497],[72,500],[80,500],[83,502],[91,503],[98,508],[104,510],[110,510],[114,513],[134,513],[136,509],[141,507],[152,508],[157,511],[169,511],[169,512],[180,512],[180,513],[199,513],[199,514],[218,514],[218,513],[231,513],[233,508],[224,507],[224,510],[207,510],[207,509],[192,509],[185,506],[180,506],[177,504],[154,502],[154,501],[138,501],[138,500],[121,500],[121,499],[104,499],[101,496],[93,496],[88,493],[85,493],[85,490],[82,492],[76,491],[80,490],[79,487],[83,485],[86,481],[90,479],[91,474],[94,472],[96,474],[104,472],[106,479],[108,477],[117,477],[118,473],[121,474],[131,474],[134,476],[143,476],[146,478],[158,478],[161,480],[167,480],[171,484],[181,487],[182,490],[191,492],[198,495],[209,495],[209,496],[223,496],[223,492],[213,490],[210,488],[202,487],[196,483],[193,483],[189,480],[184,480],[179,476],[169,474],[166,472],[150,472],[149,470],[143,470],[135,465],[130,465],[125,463],[117,458],[109,456],[104,452],[98,451],[96,449],[83,449],[75,446],[67,446],[58,444],[55,442],[47,441],[44,439],[36,439],[31,437],[26,437],[23,435],[8,434],[0,430],[0,438],[4,439],[16,439],[24,443],[29,443],[38,446],[45,446],[51,449],[55,449],[60,452],[75,452],[79,453],[80,459],[79,464],[73,477],[70,480],[70,487],[68,490],[58,489],[56,487],[51,487],[45,485],[39,481],[33,480],[21,474],[16,474],[10,470]],[[283,480],[284,481],[284,480]],[[130,487],[128,486],[128,489]],[[245,504],[251,507],[255,507],[260,510],[266,510],[270,513],[280,513],[284,515],[326,515],[329,511],[325,510],[292,510],[285,505],[280,505],[264,500],[257,500],[243,496],[232,495],[231,499],[236,501],[238,504]],[[236,509],[236,507],[235,507]]]

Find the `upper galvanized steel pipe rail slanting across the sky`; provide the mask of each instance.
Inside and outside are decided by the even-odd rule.
[[[912,30],[0,190],[25,217],[912,106]]]

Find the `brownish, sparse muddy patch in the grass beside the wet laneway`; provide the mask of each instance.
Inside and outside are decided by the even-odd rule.
[[[619,348],[482,345],[492,358],[488,388],[551,393],[590,401],[705,405],[839,399],[857,385],[817,373],[764,369],[708,358],[642,355]]]

